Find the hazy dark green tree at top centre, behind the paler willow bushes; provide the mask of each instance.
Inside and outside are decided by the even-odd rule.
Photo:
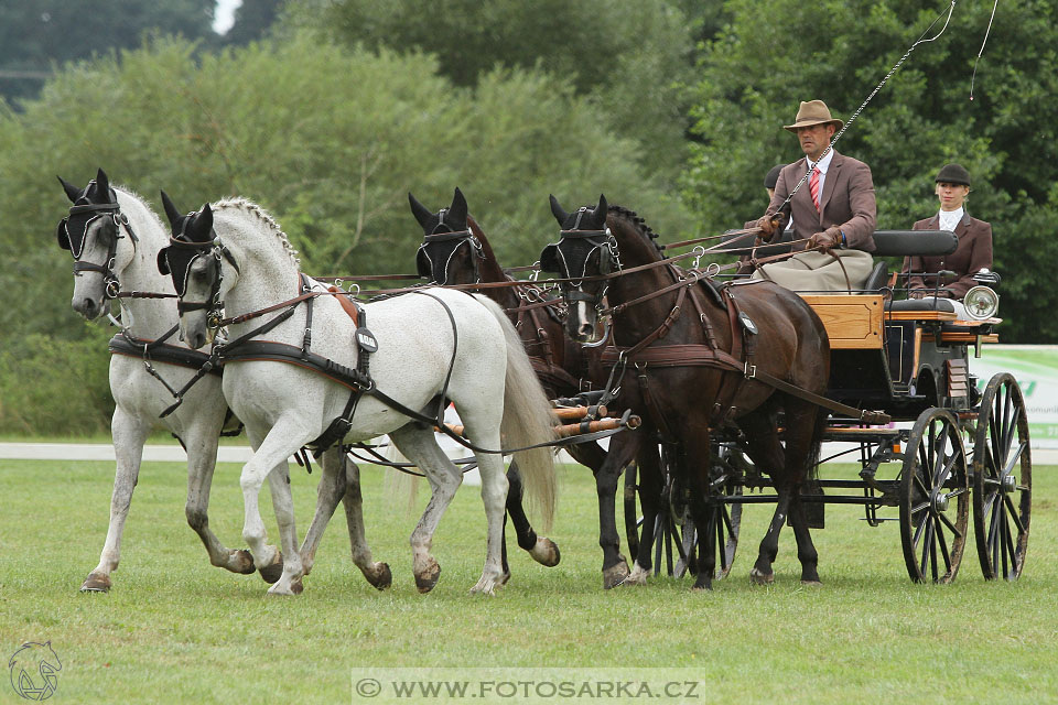
[[[643,163],[674,180],[684,159],[691,23],[669,0],[316,0],[289,14],[347,44],[436,56],[473,86],[494,67],[542,67],[644,145]],[[300,8],[300,12],[299,12]]]

